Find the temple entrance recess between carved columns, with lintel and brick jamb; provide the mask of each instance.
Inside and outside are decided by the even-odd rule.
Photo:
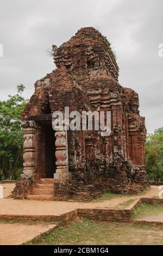
[[[32,115],[28,117],[28,120],[35,122],[35,180],[54,178],[57,166],[55,164],[56,138],[52,127],[52,114]]]

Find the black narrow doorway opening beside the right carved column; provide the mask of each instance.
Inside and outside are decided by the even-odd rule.
[[[51,125],[46,125],[45,131],[45,174],[46,178],[53,178],[56,164],[55,164],[55,136]]]

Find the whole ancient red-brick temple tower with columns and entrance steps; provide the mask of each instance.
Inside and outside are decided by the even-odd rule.
[[[95,28],[81,28],[59,48],[57,68],[35,83],[22,113],[23,174],[15,198],[91,199],[101,193],[135,193],[147,186],[145,118],[139,97],[118,83],[110,44]],[[111,134],[54,131],[52,113],[111,111]]]

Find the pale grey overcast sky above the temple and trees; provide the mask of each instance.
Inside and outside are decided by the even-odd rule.
[[[60,46],[81,27],[99,27],[112,42],[119,82],[139,93],[148,132],[163,126],[162,0],[0,0],[0,99],[34,82],[55,66],[46,50]]]

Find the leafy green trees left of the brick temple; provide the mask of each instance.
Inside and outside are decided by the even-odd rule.
[[[19,84],[16,95],[0,101],[0,173],[4,179],[16,179],[22,171],[21,113],[27,103],[22,97],[24,88]]]

